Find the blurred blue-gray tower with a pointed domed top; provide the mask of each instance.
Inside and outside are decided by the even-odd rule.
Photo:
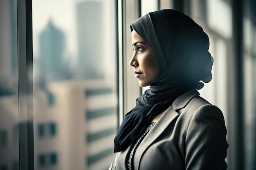
[[[64,64],[65,35],[49,20],[39,35],[40,84],[67,79],[68,67]]]

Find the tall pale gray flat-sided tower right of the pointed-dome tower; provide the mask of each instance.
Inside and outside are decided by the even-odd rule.
[[[103,34],[106,32],[103,25],[103,2],[78,2],[76,13],[79,73],[85,79],[102,79],[104,76]]]

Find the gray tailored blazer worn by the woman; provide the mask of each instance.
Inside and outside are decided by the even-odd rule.
[[[181,95],[160,117],[134,154],[135,170],[226,170],[227,130],[222,112],[196,90]],[[132,144],[109,170],[126,170]]]

